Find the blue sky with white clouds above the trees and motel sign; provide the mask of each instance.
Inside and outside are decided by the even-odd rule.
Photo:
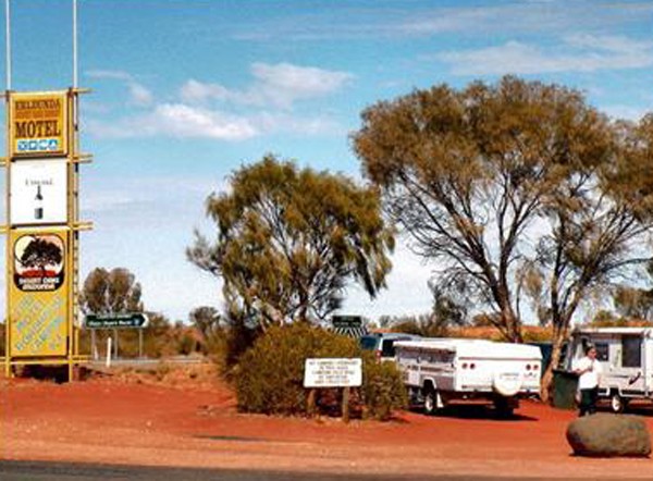
[[[11,0],[11,30],[13,90],[72,85],[72,0]],[[362,181],[350,134],[366,107],[505,74],[638,120],[653,111],[653,1],[78,0],[79,86],[91,89],[81,140],[94,155],[81,166],[94,223],[81,279],[127,268],[146,309],[171,320],[220,309],[218,279],[185,249],[195,230],[213,238],[205,200],[235,169],[274,153]],[[350,286],[341,313],[430,310],[435,267],[398,240],[387,288],[371,300]]]

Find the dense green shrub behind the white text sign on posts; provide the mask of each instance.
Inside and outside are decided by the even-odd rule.
[[[306,415],[309,390],[304,387],[307,358],[361,357],[357,343],[320,328],[295,323],[271,328],[239,359],[235,372],[238,408],[248,412]],[[385,365],[385,366],[384,366]],[[406,393],[392,363],[364,356],[364,386],[353,393],[353,415],[387,419],[405,406]],[[340,390],[318,390],[321,412],[340,409]]]

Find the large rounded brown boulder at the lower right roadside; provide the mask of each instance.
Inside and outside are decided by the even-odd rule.
[[[638,416],[597,414],[578,418],[567,427],[574,454],[593,457],[645,457],[651,454],[651,435]]]

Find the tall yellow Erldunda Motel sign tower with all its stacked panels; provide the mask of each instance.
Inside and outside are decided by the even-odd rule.
[[[78,355],[77,108],[83,90],[8,90],[5,373]]]

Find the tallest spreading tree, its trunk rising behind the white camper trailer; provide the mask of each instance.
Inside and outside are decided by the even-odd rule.
[[[521,341],[523,234],[576,165],[605,156],[606,130],[577,92],[505,77],[381,101],[362,112],[354,147],[414,249],[439,262],[438,283]]]

